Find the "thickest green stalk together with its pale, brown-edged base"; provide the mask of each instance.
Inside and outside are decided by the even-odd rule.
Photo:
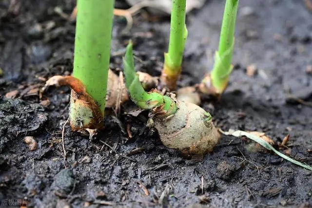
[[[111,49],[114,0],[78,0],[73,76],[78,78],[96,102],[92,111],[74,90],[71,93],[70,122],[74,129],[96,129],[103,125],[107,76]]]

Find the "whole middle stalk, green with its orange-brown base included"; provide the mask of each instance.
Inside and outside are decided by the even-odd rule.
[[[172,0],[169,48],[168,53],[165,53],[162,72],[162,80],[171,90],[176,88],[176,81],[181,73],[184,46],[187,38],[185,7],[186,0]]]

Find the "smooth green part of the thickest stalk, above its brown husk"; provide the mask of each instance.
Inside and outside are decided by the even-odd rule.
[[[104,114],[114,0],[78,0],[74,76]]]

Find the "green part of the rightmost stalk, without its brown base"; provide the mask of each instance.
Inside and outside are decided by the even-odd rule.
[[[219,51],[215,54],[212,82],[216,89],[224,90],[232,71],[231,62],[234,49],[234,32],[238,0],[226,0],[223,14]]]

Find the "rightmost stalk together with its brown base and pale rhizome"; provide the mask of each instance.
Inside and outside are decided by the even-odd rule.
[[[207,74],[201,83],[193,87],[178,89],[177,97],[181,100],[200,103],[200,94],[220,97],[226,89],[234,51],[235,21],[239,0],[226,0],[221,25],[219,51],[215,52],[215,64],[212,72]]]

